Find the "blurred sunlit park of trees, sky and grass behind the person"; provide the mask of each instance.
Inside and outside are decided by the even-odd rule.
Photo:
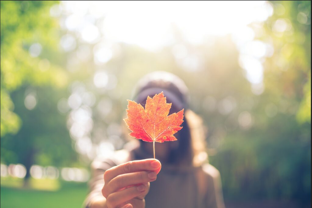
[[[190,89],[227,207],[310,207],[310,1],[1,1],[0,38],[1,207],[80,207],[156,70]]]

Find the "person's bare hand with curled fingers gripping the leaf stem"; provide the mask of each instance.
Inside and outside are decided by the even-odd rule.
[[[149,182],[156,180],[161,164],[156,159],[135,160],[105,171],[102,194],[107,208],[144,208]]]

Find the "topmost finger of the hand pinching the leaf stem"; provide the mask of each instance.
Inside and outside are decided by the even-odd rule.
[[[115,178],[117,175],[125,173],[133,173],[139,171],[155,171],[157,174],[161,169],[159,160],[156,159],[145,159],[145,160],[134,160],[129,161],[115,167],[112,167],[105,171],[104,180],[108,183],[110,180]]]

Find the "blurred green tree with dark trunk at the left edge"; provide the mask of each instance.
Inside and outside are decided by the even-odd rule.
[[[54,1],[1,1],[1,162],[70,165],[76,153],[57,102],[67,73]],[[28,96],[28,98],[27,98]],[[30,96],[30,97],[29,97]]]

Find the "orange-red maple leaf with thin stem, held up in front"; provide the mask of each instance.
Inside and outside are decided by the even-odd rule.
[[[139,140],[153,142],[175,141],[173,134],[182,129],[184,109],[168,116],[171,103],[166,103],[163,92],[147,97],[145,109],[141,104],[128,101],[127,117],[124,122],[132,131],[129,135]]]

